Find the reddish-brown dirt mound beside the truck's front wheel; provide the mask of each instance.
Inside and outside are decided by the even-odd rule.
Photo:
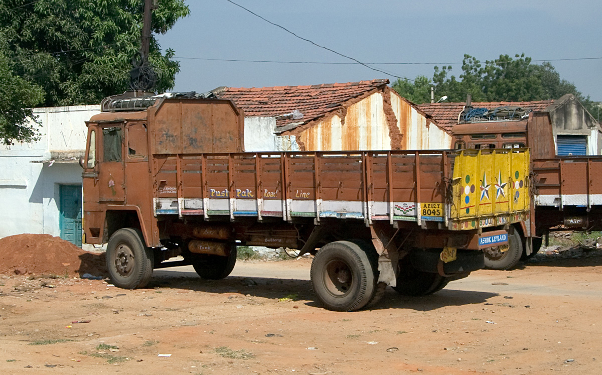
[[[88,253],[51,235],[16,235],[0,239],[0,274],[106,276],[105,254]]]

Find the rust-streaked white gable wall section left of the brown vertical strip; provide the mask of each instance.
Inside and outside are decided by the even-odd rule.
[[[303,130],[297,139],[306,151],[390,150],[389,128],[380,92],[352,104],[339,115],[330,116]]]

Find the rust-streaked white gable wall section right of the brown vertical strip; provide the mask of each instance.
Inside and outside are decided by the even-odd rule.
[[[390,90],[391,106],[397,127],[403,135],[402,150],[447,150],[452,148],[452,136],[435,124],[429,124],[408,101]]]

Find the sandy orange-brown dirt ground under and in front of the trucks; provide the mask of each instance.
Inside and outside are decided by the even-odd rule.
[[[157,270],[135,291],[8,273],[0,373],[599,374],[602,256],[589,255],[477,271],[428,297],[388,288],[352,313],[315,301],[311,259],[240,262],[211,282]]]

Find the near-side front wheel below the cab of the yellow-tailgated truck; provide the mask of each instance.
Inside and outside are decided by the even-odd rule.
[[[107,269],[111,282],[124,289],[144,288],[152,276],[154,253],[146,247],[142,233],[122,228],[107,244]]]

